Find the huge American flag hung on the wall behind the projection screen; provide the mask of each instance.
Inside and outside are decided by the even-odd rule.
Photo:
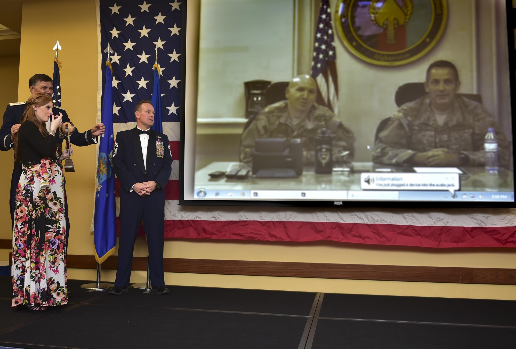
[[[325,3],[323,2],[323,6]],[[323,209],[178,205],[180,113],[183,112],[180,88],[185,80],[180,63],[182,59],[187,59],[181,52],[181,41],[186,33],[186,23],[182,21],[185,6],[186,0],[99,2],[99,77],[102,74],[102,79],[99,78],[98,114],[100,120],[103,86],[105,83],[111,84],[115,137],[118,131],[135,127],[133,110],[136,103],[142,99],[151,99],[152,66],[157,49],[162,73],[160,88],[163,131],[168,135],[174,158],[172,174],[165,188],[165,237],[299,242],[332,240],[422,247],[516,247],[516,214],[512,209]],[[324,12],[321,11],[319,15],[321,14]],[[317,33],[318,29],[314,29]],[[326,33],[330,29],[327,25]],[[114,51],[111,57],[113,78],[106,82],[104,62],[107,56],[104,50],[108,42]],[[118,190],[119,185],[116,192],[117,216]]]

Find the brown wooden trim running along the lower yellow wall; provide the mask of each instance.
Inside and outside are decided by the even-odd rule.
[[[11,241],[0,239],[0,248]],[[9,257],[10,260],[10,257]],[[117,256],[109,257],[102,268],[116,270]],[[94,256],[68,255],[69,268],[96,269]],[[516,269],[467,268],[412,265],[371,265],[305,262],[235,261],[220,259],[165,258],[165,272],[250,276],[280,276],[352,280],[447,282],[516,285]],[[147,269],[146,257],[133,258],[133,270]]]

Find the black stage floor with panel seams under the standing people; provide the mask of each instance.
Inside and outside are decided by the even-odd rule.
[[[0,276],[0,347],[510,348],[516,301],[169,287],[120,296],[69,280],[71,303],[10,308]]]

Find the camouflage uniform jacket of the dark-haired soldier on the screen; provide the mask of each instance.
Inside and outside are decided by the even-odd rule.
[[[446,148],[463,153],[470,166],[485,164],[483,150],[487,129],[494,127],[498,138],[498,161],[507,166],[507,138],[496,128],[496,121],[480,104],[462,96],[440,126],[430,107],[429,96],[402,105],[380,130],[373,150],[373,161],[385,165],[410,162],[417,152]]]

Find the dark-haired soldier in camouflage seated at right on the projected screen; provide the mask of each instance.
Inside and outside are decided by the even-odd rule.
[[[494,118],[456,92],[457,68],[436,61],[427,69],[425,96],[402,105],[375,140],[373,161],[385,165],[483,166],[484,137]],[[498,160],[507,166],[507,139],[496,130]]]

